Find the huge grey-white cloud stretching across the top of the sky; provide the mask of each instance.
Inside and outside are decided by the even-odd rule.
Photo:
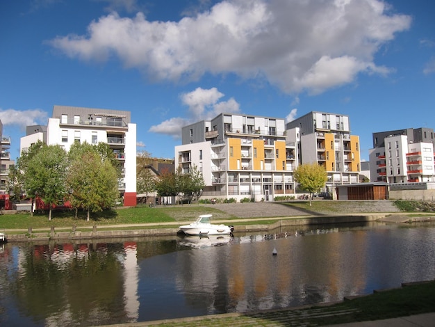
[[[88,35],[49,43],[87,61],[117,56],[152,79],[231,72],[262,77],[286,93],[321,93],[363,72],[389,71],[373,57],[411,24],[390,9],[380,0],[227,0],[179,22],[111,13],[90,23]]]

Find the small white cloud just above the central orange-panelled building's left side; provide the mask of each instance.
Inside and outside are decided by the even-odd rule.
[[[197,88],[180,96],[181,102],[188,106],[188,118],[170,118],[159,125],[151,126],[149,131],[168,134],[173,138],[181,137],[181,127],[200,120],[208,120],[220,113],[238,113],[240,105],[231,97],[228,101],[219,101],[224,97],[217,88]]]

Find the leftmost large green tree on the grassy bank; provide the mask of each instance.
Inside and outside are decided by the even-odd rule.
[[[65,202],[67,153],[60,145],[42,145],[27,158],[24,189],[33,199],[40,198],[49,206],[49,220],[54,205]]]

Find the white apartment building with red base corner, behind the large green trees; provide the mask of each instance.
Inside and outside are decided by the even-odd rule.
[[[33,130],[34,129],[34,130]],[[136,124],[129,111],[54,106],[47,128],[29,127],[20,149],[41,140],[61,145],[66,151],[74,142],[107,143],[120,161],[120,195],[124,206],[136,205]]]

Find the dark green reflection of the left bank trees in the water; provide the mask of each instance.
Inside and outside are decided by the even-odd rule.
[[[106,244],[31,246],[23,255],[14,288],[26,316],[81,326],[125,321],[122,262]]]

